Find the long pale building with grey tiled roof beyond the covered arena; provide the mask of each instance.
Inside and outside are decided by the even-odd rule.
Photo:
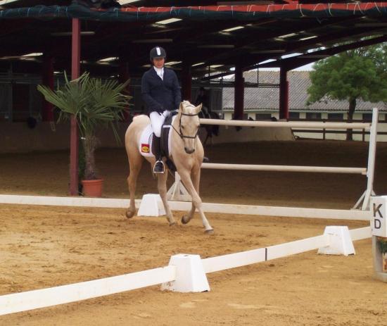
[[[343,121],[348,118],[348,101],[327,100],[307,106],[307,89],[310,81],[309,71],[289,71],[289,120],[313,121]],[[270,120],[279,118],[279,71],[249,71],[243,74],[245,78],[244,119]],[[259,81],[259,83],[258,83]],[[387,104],[357,101],[353,120],[371,121],[372,108],[379,108],[379,137],[387,141]],[[224,87],[222,94],[222,113],[224,119],[234,116],[234,88]],[[319,132],[295,132],[303,138],[345,139],[345,132],[320,130]],[[358,132],[361,132],[360,130]],[[386,132],[386,134],[383,134]],[[354,139],[362,140],[362,134],[355,134]],[[365,137],[367,140],[367,136]]]

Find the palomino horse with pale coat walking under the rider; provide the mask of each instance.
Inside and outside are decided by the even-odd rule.
[[[195,209],[201,215],[203,226],[206,233],[212,233],[213,229],[210,226],[207,218],[205,218],[202,201],[199,197],[199,183],[201,179],[201,163],[203,162],[203,145],[198,134],[200,127],[198,113],[201,111],[200,106],[194,106],[189,101],[183,101],[179,106],[179,113],[175,116],[172,122],[171,134],[171,150],[170,158],[175,163],[177,173],[179,173],[184,186],[192,197],[191,210],[182,217],[182,223],[188,223],[194,217]],[[137,176],[141,170],[141,165],[144,157],[139,152],[139,142],[141,132],[151,123],[151,120],[146,115],[138,115],[134,117],[133,122],[127,128],[125,134],[125,148],[129,159],[129,177],[127,184],[130,194],[130,205],[127,209],[127,218],[132,218],[136,213],[134,206],[134,192],[136,190]],[[146,160],[155,163],[154,156],[146,157]],[[166,165],[165,165],[166,166]],[[167,220],[170,225],[175,225],[172,211],[167,202],[167,171],[163,174],[158,174],[158,192],[163,201]]]

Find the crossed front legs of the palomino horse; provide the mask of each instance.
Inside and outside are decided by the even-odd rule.
[[[192,197],[192,207],[191,211],[189,211],[188,215],[184,215],[182,217],[182,223],[188,223],[189,220],[194,216],[195,208],[198,209],[199,214],[201,215],[201,220],[203,222],[203,226],[205,228],[205,233],[212,234],[214,232],[214,229],[212,229],[210,223],[208,222],[207,218],[204,215],[203,208],[202,208],[202,201],[201,197],[199,196],[199,184],[201,180],[201,169],[194,169],[192,170],[192,180],[188,172],[184,172],[182,175],[180,175],[182,182],[184,183],[184,186],[186,187],[189,194],[191,194]]]

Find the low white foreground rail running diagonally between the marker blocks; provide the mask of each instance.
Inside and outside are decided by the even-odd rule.
[[[346,230],[348,230],[348,228],[346,228]],[[371,237],[371,227],[349,230],[349,234],[352,241],[367,239]],[[317,237],[310,237],[285,244],[277,244],[266,248],[205,258],[201,259],[201,263],[205,273],[218,272],[229,268],[236,268],[253,263],[260,263],[263,261],[270,261],[272,259],[291,256],[296,253],[322,249],[327,246],[336,245],[337,242],[337,238],[333,239],[331,234],[326,234],[324,231],[324,234]],[[168,265],[163,268],[132,272],[130,274],[107,277],[100,280],[91,280],[87,282],[62,285],[59,287],[5,294],[0,296],[0,315],[82,301],[162,283],[168,284],[168,282],[174,281],[186,283],[184,276],[188,270],[193,269],[190,262],[188,262],[188,265],[189,266],[183,266],[180,272],[177,270],[177,266]],[[182,277],[182,280],[178,280],[179,277]]]

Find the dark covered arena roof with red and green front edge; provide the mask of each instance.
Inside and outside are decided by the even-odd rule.
[[[42,56],[25,56],[31,53],[52,56],[55,70],[69,71],[71,18],[82,20],[82,69],[100,75],[118,74],[122,64],[131,76],[141,75],[156,44],[165,47],[172,68],[190,66],[200,80],[235,65],[291,70],[387,39],[387,2],[310,2],[165,0],[147,7],[153,1],[141,0],[101,10],[70,1],[2,0],[0,73],[11,63],[16,73],[40,73]]]

